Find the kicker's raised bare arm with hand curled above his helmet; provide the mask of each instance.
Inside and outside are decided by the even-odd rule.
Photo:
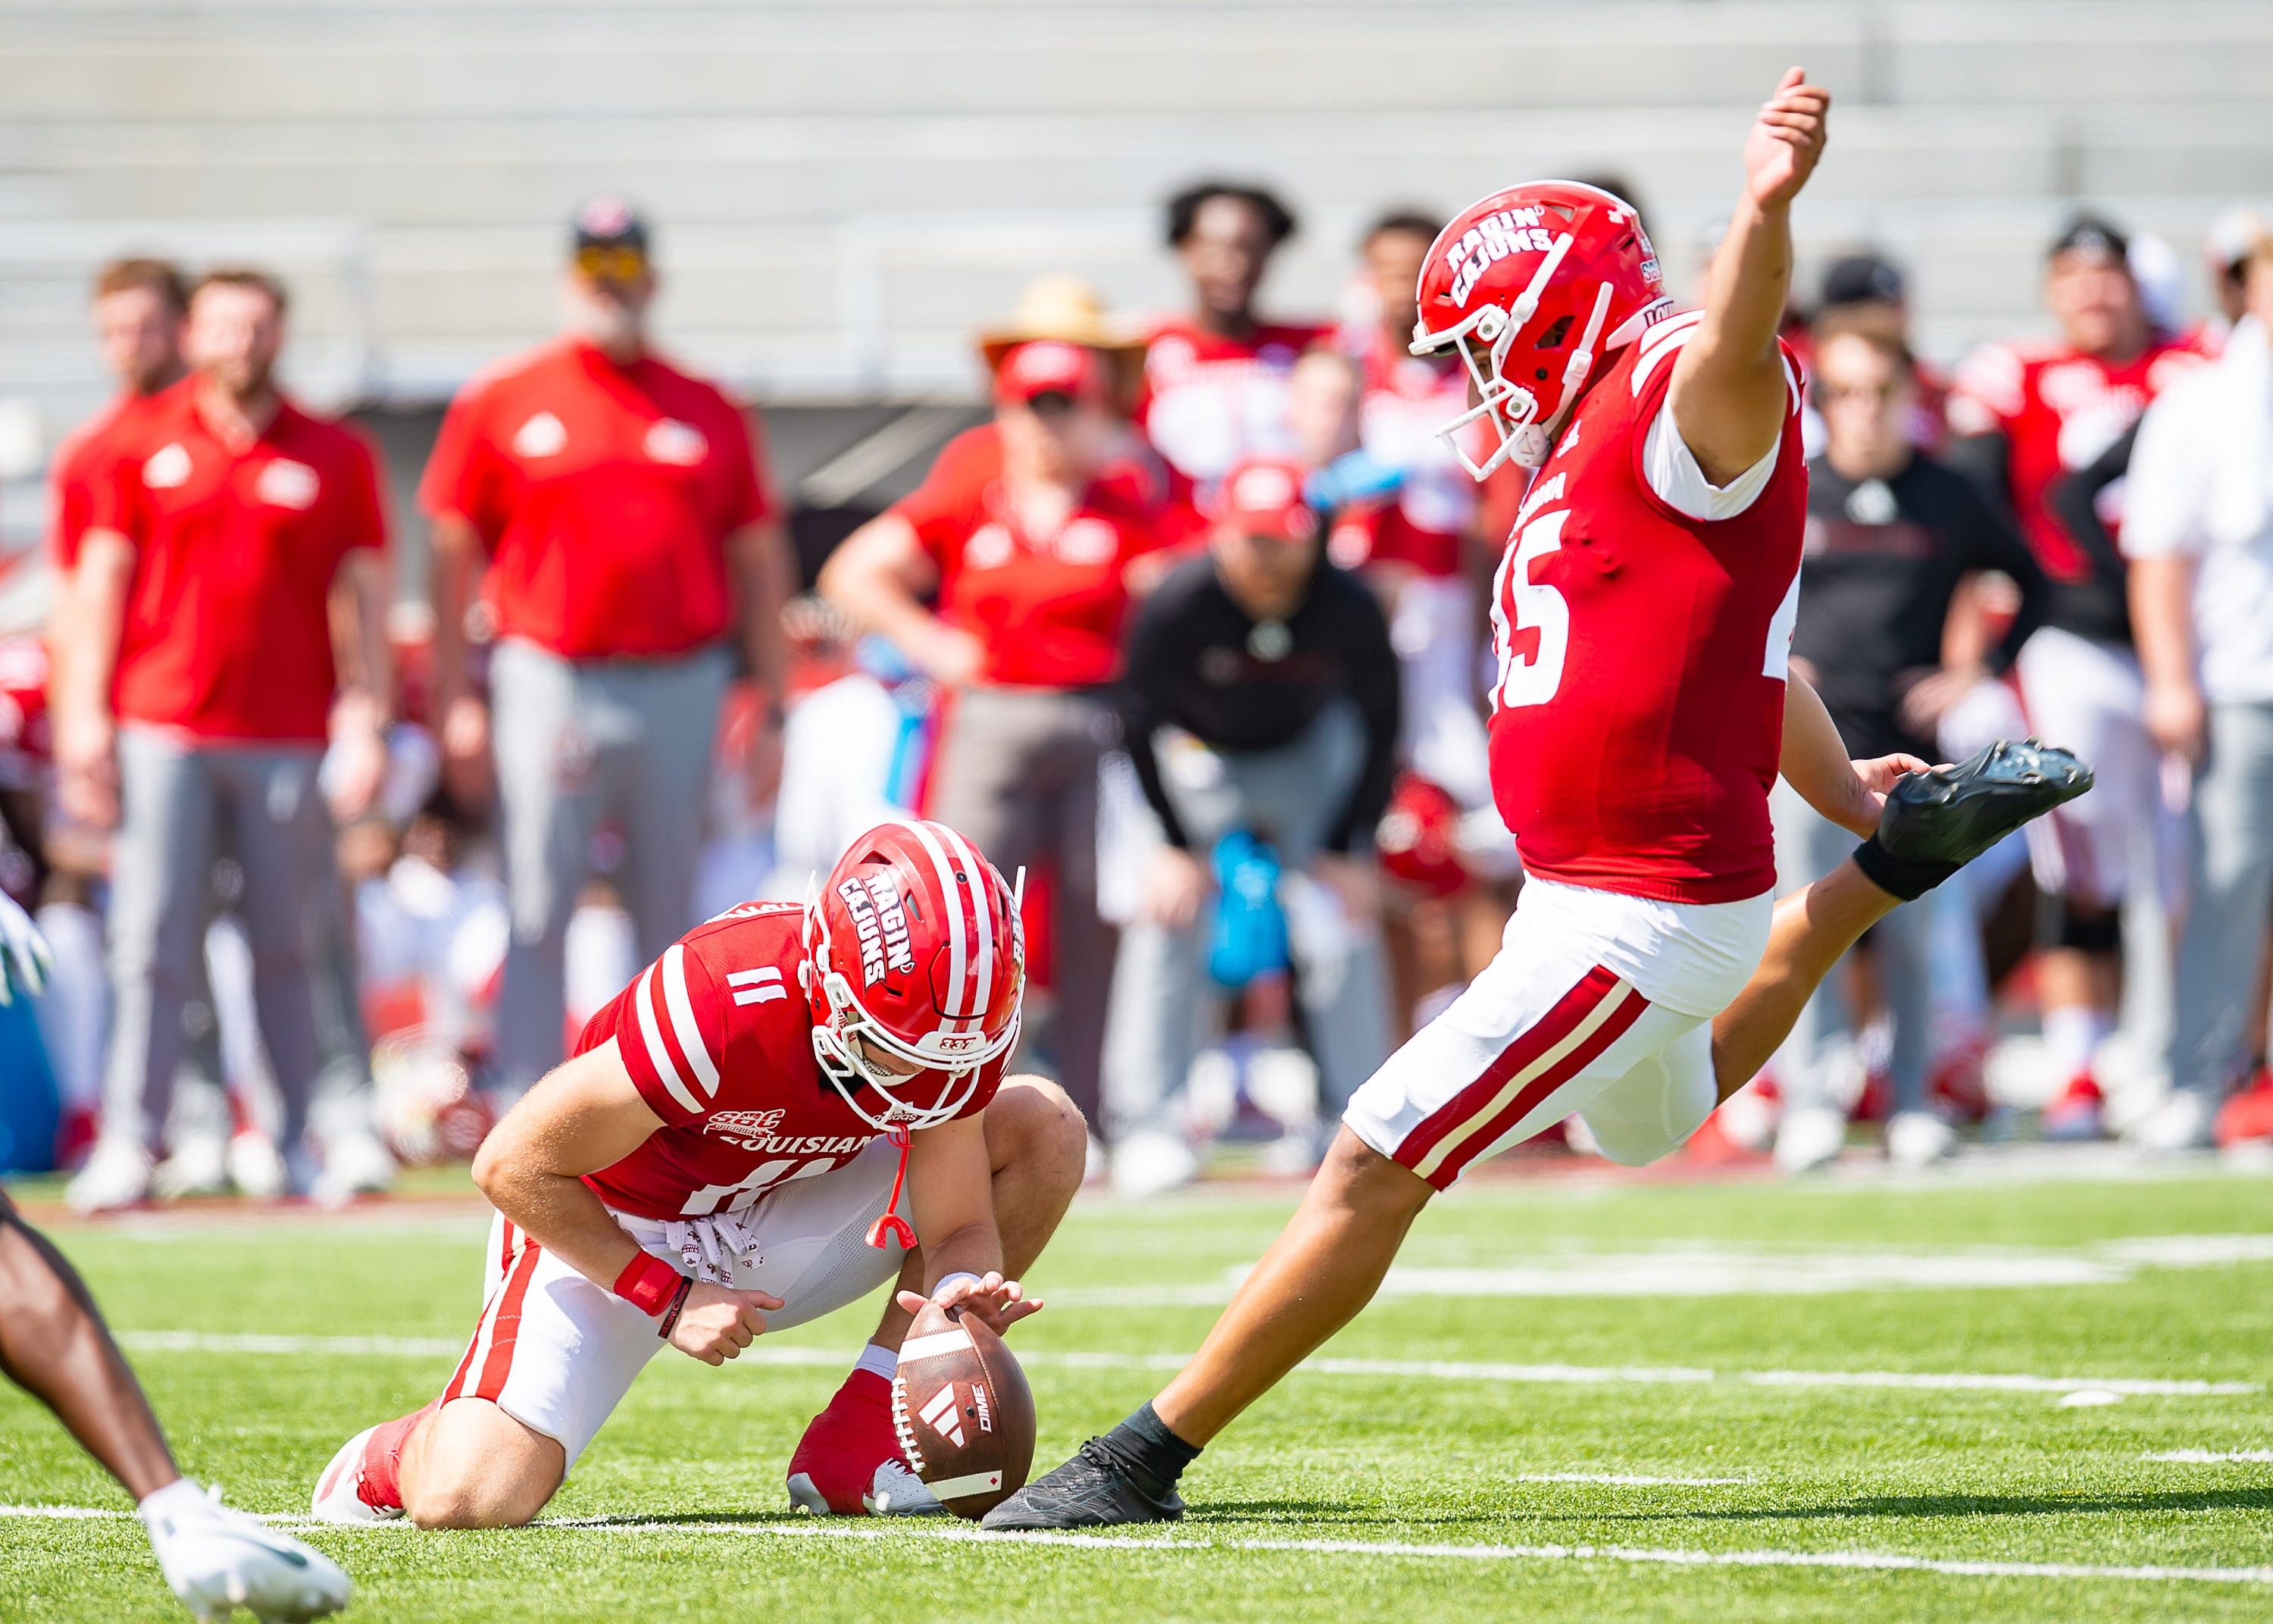
[[[1823,157],[1830,91],[1784,73],[1743,143],[1743,202],[1705,275],[1705,314],[1673,364],[1668,405],[1705,478],[1727,484],[1784,432],[1775,332],[1791,293],[1791,200]]]

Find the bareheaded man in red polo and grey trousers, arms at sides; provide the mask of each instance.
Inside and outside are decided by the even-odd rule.
[[[373,450],[275,387],[284,291],[214,271],[191,293],[191,378],[95,484],[57,707],[59,801],[116,828],[102,1140],[73,1185],[139,1201],[173,1099],[216,853],[241,873],[257,1019],[295,1192],[343,1194],[309,1142],[325,1064],[318,958],[339,873],[330,812],[380,787],[393,680]]]

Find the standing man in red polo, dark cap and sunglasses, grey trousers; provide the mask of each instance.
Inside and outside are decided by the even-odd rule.
[[[459,785],[493,764],[514,935],[498,1080],[561,1062],[564,939],[593,830],[625,832],[641,958],[693,923],[696,855],[736,653],[780,751],[789,541],[752,421],[648,346],[648,230],[600,198],[575,216],[568,332],[452,403],[421,505],[434,521],[434,680]],[[496,632],[468,671],[475,582]],[[493,712],[493,719],[491,719]]]

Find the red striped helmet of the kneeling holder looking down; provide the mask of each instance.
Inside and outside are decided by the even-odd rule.
[[[952,828],[909,819],[852,842],[807,903],[814,1058],[864,1121],[948,1121],[1018,1042],[1023,878],[1011,887]]]

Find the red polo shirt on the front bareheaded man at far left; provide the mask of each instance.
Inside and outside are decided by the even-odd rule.
[[[377,457],[289,400],[234,448],[205,425],[198,389],[159,393],[143,450],[95,487],[89,528],[136,555],[114,710],[207,741],[320,744],[332,582],[348,553],[386,546]]]

